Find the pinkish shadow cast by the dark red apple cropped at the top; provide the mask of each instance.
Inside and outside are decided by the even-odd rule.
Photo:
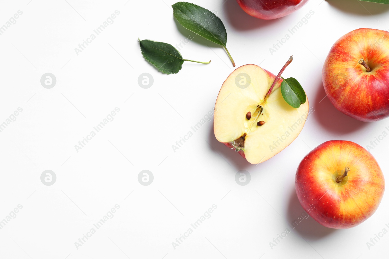
[[[262,20],[249,15],[240,8],[236,0],[221,0],[221,2],[229,23],[237,30],[252,30],[280,22],[279,19]]]

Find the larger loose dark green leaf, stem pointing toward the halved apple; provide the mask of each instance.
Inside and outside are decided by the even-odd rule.
[[[233,66],[235,66],[235,62],[226,48],[227,31],[219,17],[210,10],[195,5],[194,3],[177,2],[172,7],[173,16],[179,24],[187,30],[193,31],[201,37],[223,46]]]

